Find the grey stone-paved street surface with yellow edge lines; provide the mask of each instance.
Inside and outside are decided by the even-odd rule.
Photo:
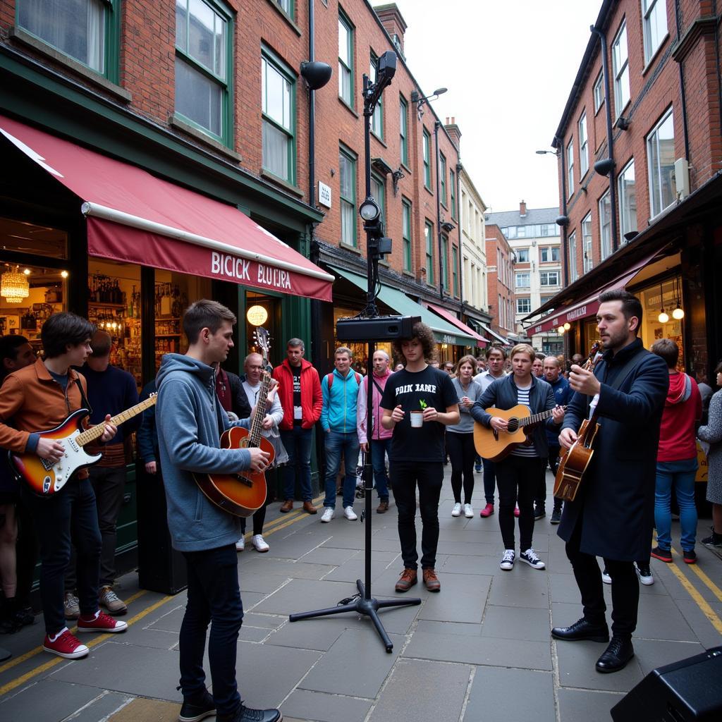
[[[672,565],[652,560],[655,583],[642,587],[636,656],[622,672],[596,673],[604,645],[549,637],[552,624],[580,616],[556,527],[547,517],[534,530],[547,570],[517,564],[503,572],[497,518],[478,516],[480,475],[477,514],[466,519],[451,517],[448,473],[439,510],[442,589],[430,594],[417,586],[412,594],[421,606],[381,612],[391,654],[370,620],[355,614],[288,621],[293,612],[334,606],[355,593],[355,580],[364,575],[362,524],[338,512],[321,524],[320,515],[297,509],[279,515],[277,504],[269,509],[270,552],[247,549],[238,557],[246,611],[238,680],[248,705],[280,706],[286,722],[596,722],[609,720],[609,709],[651,669],[722,645],[722,560],[698,545],[694,567],[679,554]],[[547,482],[551,490],[551,474]],[[359,512],[361,504],[357,500]],[[700,533],[708,525],[701,520]],[[679,539],[676,524],[673,532]],[[401,568],[392,504],[383,516],[373,513],[373,595],[398,596],[393,584]],[[139,590],[137,576],[129,574],[121,579],[121,596],[130,600],[129,630],[92,638],[84,660],[41,651],[40,618],[0,638],[14,654],[0,664],[0,720],[177,719],[185,594]]]

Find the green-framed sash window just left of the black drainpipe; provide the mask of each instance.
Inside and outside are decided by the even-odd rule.
[[[278,91],[280,97],[274,97]],[[264,170],[295,186],[296,79],[269,48],[261,51],[261,125]]]

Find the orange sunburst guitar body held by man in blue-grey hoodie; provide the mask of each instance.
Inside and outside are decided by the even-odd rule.
[[[231,427],[221,436],[221,448],[248,448],[249,434],[248,429]],[[269,453],[269,466],[273,464],[276,451],[271,442],[261,437],[258,446]],[[266,474],[262,471],[245,469],[238,474],[193,474],[193,477],[212,503],[233,516],[251,516],[266,501]]]

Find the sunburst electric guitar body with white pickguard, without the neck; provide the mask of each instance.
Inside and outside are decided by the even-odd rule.
[[[61,425],[39,432],[40,438],[53,439],[64,446],[64,456],[55,464],[35,453],[9,452],[10,465],[33,493],[41,497],[56,495],[78,469],[100,461],[103,454],[89,454],[77,443],[77,437],[84,432],[83,419],[89,413],[87,409],[78,409]]]

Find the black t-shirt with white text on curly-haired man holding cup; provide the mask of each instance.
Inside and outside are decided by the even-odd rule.
[[[413,428],[410,412],[433,406],[445,413],[449,406],[458,404],[448,373],[432,366],[423,371],[396,371],[386,381],[380,406],[393,411],[399,404],[404,418],[393,427],[389,458],[392,461],[443,461],[444,425],[425,421],[422,427]]]

